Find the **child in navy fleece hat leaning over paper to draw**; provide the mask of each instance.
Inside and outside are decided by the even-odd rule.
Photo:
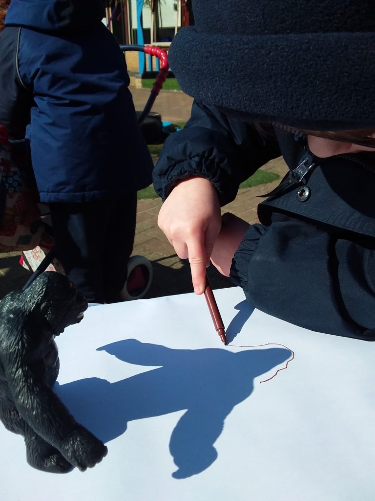
[[[307,329],[375,338],[375,9],[372,0],[195,0],[169,63],[195,98],[154,171],[159,226],[259,310]],[[260,224],[220,206],[282,155],[289,173]]]

